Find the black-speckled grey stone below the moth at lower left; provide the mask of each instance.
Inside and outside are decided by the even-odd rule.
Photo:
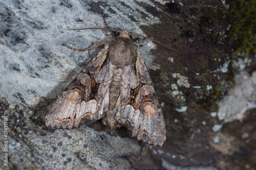
[[[49,130],[44,111],[2,103],[8,115],[9,167],[3,169],[130,169],[126,156],[139,155],[141,147],[131,138],[111,136],[82,126],[76,130]],[[1,119],[0,126],[4,127]],[[1,134],[3,134],[3,128]],[[0,143],[4,148],[3,142]],[[1,154],[3,155],[3,150]]]

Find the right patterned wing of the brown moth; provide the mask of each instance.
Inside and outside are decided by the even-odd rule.
[[[127,76],[129,74],[133,76]],[[161,146],[166,140],[163,114],[138,48],[135,67],[131,65],[125,68],[120,91],[118,122],[138,140]]]

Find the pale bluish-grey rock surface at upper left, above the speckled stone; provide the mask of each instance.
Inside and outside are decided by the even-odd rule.
[[[61,44],[86,48],[109,39],[102,30],[67,31],[74,28],[104,28],[102,15],[97,12],[107,15],[106,21],[113,29],[121,31],[129,28],[131,32],[143,35],[139,25],[132,22],[129,16],[119,15],[129,13],[130,8],[143,10],[138,4],[127,3],[2,2],[0,91],[8,102],[38,107],[46,105],[46,99],[56,99],[81,70],[77,65],[82,66],[93,57],[88,57],[88,52],[78,53]],[[147,15],[151,16],[150,13]],[[137,14],[134,17],[140,19],[143,25],[157,22],[153,16],[142,19]],[[142,54],[154,48],[152,42],[149,44],[151,46],[142,47]],[[147,56],[147,65],[154,67],[150,64],[151,56],[142,56]]]

